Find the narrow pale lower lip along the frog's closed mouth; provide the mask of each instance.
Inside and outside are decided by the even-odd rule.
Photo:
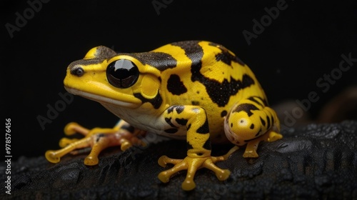
[[[86,99],[90,99],[92,101],[98,101],[99,103],[105,103],[105,104],[112,104],[112,105],[116,105],[116,106],[122,106],[122,107],[126,107],[126,108],[135,108],[137,107],[136,104],[134,103],[130,103],[130,102],[126,102],[126,101],[119,101],[117,99],[111,99],[109,97],[106,96],[101,96],[98,94],[92,94],[86,91],[81,91],[79,89],[74,89],[71,88],[69,86],[64,86],[64,89],[66,89],[66,91],[68,91],[71,94],[74,95],[78,95],[78,96],[82,96]]]

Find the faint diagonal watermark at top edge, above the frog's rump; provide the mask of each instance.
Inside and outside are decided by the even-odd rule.
[[[292,0],[293,1],[293,0]],[[261,19],[258,21],[257,19],[253,19],[253,27],[252,31],[247,31],[244,29],[242,34],[244,39],[248,45],[251,45],[251,39],[257,39],[258,35],[262,34],[266,27],[270,26],[273,20],[277,19],[280,11],[286,10],[288,8],[288,4],[286,4],[285,0],[278,0],[276,2],[276,6],[271,7],[268,9],[267,7],[264,8],[266,14],[261,16]]]

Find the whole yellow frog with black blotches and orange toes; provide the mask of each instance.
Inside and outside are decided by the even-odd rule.
[[[217,162],[244,147],[244,158],[258,158],[261,141],[283,137],[278,116],[268,106],[251,69],[232,51],[212,41],[176,41],[139,53],[96,46],[84,59],[69,64],[64,88],[99,102],[119,121],[110,128],[94,129],[70,122],[64,134],[79,133],[84,138],[61,139],[61,149],[45,153],[52,163],[90,148],[84,164],[94,166],[104,149],[120,146],[126,151],[145,146],[143,137],[154,133],[186,140],[185,158],[159,158],[160,166],[172,168],[161,171],[158,178],[168,183],[171,176],[186,170],[181,188],[191,191],[196,187],[193,179],[198,169],[211,170],[224,181],[231,171],[221,169]],[[222,156],[212,156],[213,144],[233,147]]]

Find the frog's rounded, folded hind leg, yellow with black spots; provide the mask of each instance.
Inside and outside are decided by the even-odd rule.
[[[276,141],[280,124],[276,112],[258,96],[251,96],[236,103],[226,116],[224,131],[227,138],[237,146],[246,144],[245,158],[256,158],[261,141]]]

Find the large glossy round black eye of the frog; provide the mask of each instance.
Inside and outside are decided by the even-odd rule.
[[[138,67],[129,60],[120,59],[112,62],[106,68],[106,78],[109,84],[118,88],[133,86],[139,77]]]

